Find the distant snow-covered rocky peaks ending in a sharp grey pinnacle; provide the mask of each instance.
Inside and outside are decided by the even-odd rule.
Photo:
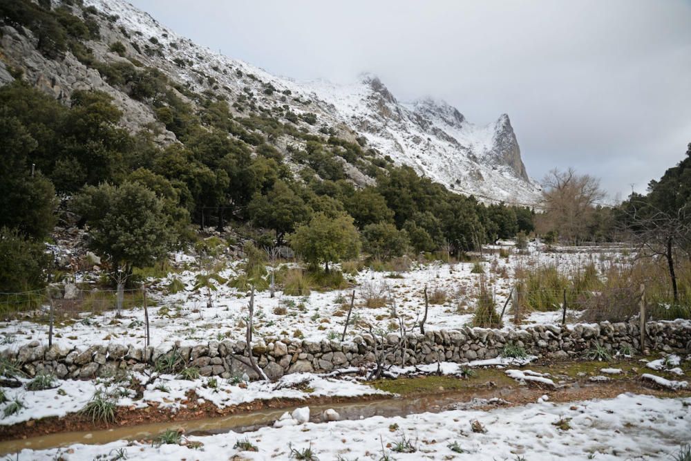
[[[540,194],[526,172],[507,114],[493,124],[475,126],[444,101],[401,103],[369,74],[351,85],[319,80],[301,86],[327,102],[323,110],[370,145],[455,191],[511,203],[535,203]]]

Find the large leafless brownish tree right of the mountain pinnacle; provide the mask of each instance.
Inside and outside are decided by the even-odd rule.
[[[600,180],[579,175],[573,168],[553,169],[542,181],[542,208],[538,219],[541,232],[554,230],[560,238],[578,243],[587,236],[596,204],[605,198]]]

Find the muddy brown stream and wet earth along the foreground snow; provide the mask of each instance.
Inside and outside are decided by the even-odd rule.
[[[357,420],[375,415],[391,417],[424,412],[438,413],[451,409],[486,409],[513,406],[536,402],[536,399],[544,394],[549,395],[553,402],[612,398],[625,392],[659,396],[680,395],[679,393],[674,394],[647,387],[638,379],[618,379],[603,383],[574,379],[562,388],[547,390],[545,388],[519,386],[513,380],[505,377],[501,370],[496,369],[478,370],[474,379],[413,377],[375,382],[374,386],[399,393],[401,396],[378,399],[368,397],[366,401],[350,400],[325,404],[307,402],[306,405],[310,406],[310,420],[323,422],[322,413],[329,408],[336,410],[341,420]],[[683,394],[691,395],[691,393]],[[184,430],[186,435],[214,435],[229,431],[242,433],[254,431],[262,426],[269,426],[278,420],[285,411],[290,412],[294,408],[297,406],[267,408],[260,411],[206,417],[197,420],[171,420],[96,431],[62,432],[19,440],[7,440],[0,442],[0,456],[15,453],[22,449],[50,449],[79,443],[106,444],[115,440],[151,440],[166,429],[180,428]]]

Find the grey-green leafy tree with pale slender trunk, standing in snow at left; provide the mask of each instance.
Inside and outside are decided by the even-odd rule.
[[[117,284],[117,311],[133,267],[153,264],[170,250],[176,236],[164,202],[139,183],[86,187],[75,205],[90,226],[90,246],[108,256]]]

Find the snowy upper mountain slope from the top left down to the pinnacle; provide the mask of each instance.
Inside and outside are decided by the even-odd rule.
[[[115,25],[128,30],[129,41],[140,48],[150,46],[155,37],[162,53],[148,53],[146,64],[193,91],[225,91],[231,102],[249,94],[265,109],[287,104],[296,114],[316,113],[318,122],[307,126],[310,131],[317,133],[326,125],[351,139],[361,135],[395,163],[409,165],[451,190],[483,201],[532,205],[539,198],[540,187],[525,171],[506,114],[493,124],[475,126],[443,101],[426,98],[401,103],[368,74],[345,85],[295,82],[197,46],[124,0],[84,3],[117,15]],[[275,91],[267,94],[269,84]]]

